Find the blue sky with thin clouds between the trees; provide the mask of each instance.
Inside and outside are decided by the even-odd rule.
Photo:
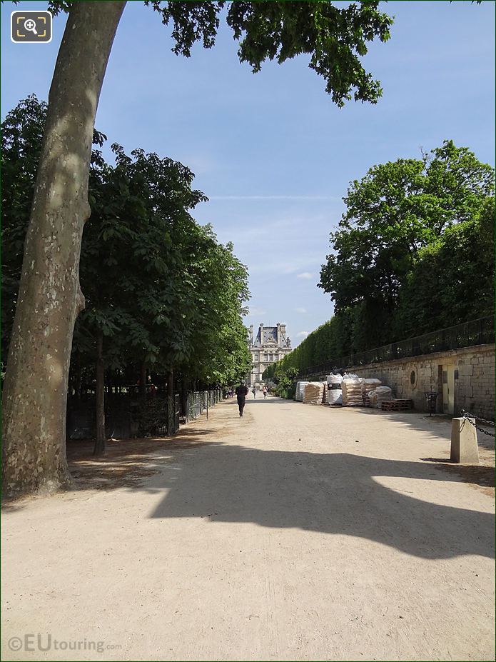
[[[194,216],[248,266],[246,324],[285,322],[293,346],[332,316],[316,284],[351,180],[443,139],[494,165],[494,2],[381,8],[395,24],[365,57],[383,84],[376,106],[336,108],[305,57],[252,74],[226,26],[214,49],[175,56],[170,29],[141,1],[126,6],[103,83],[96,127],[108,146],[143,147],[195,172],[210,201]],[[51,44],[12,44],[12,9],[46,3],[1,6],[2,119],[31,92],[47,99],[65,22],[54,19]]]

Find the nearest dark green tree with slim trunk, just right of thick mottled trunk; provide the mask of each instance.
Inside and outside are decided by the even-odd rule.
[[[182,164],[141,149],[127,156],[118,144],[112,149],[115,167],[103,162],[91,169],[81,260],[87,304],[76,329],[76,350],[88,335],[96,344],[97,454],[105,448],[104,364],[122,368],[132,351],[144,397],[146,368],[163,358],[167,341],[181,336],[188,306],[183,239],[196,228],[188,210],[206,200],[191,189],[193,173]]]

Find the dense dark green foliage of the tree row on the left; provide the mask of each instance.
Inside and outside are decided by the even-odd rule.
[[[2,124],[3,356],[45,118],[46,104],[31,95]],[[96,133],[96,146],[105,139]],[[115,165],[99,149],[91,159],[91,216],[80,265],[86,308],[73,343],[79,368],[82,363],[93,375],[101,333],[105,364],[113,371],[146,363],[156,373],[173,368],[206,384],[232,383],[249,366],[242,322],[246,267],[231,244],[219,244],[211,227],[191,216],[207,199],[191,188],[193,173],[186,166],[141,149],[127,155],[118,144],[112,151]]]

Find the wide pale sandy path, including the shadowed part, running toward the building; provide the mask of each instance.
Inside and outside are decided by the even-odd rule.
[[[4,509],[1,659],[493,660],[494,440],[459,467],[443,419],[245,411],[72,448],[77,491]]]

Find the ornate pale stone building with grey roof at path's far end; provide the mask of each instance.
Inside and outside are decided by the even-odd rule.
[[[248,329],[248,343],[251,352],[251,372],[247,376],[248,386],[254,386],[262,381],[262,374],[270,363],[279,361],[291,351],[291,341],[286,336],[286,325],[278,322],[275,326],[258,327],[253,336],[253,324]]]

